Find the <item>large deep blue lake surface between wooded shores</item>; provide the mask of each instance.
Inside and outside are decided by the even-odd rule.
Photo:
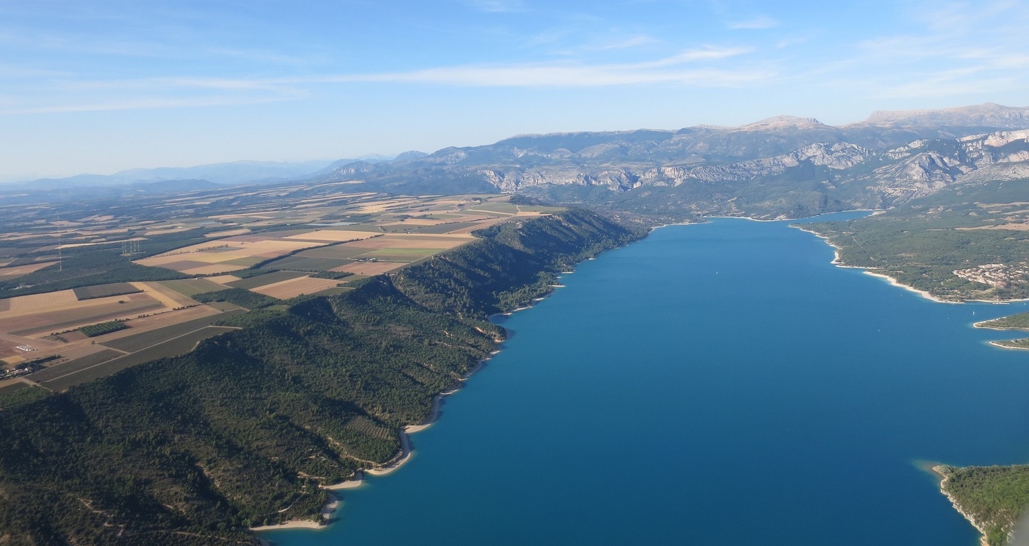
[[[1029,461],[1029,352],[971,328],[1029,306],[936,303],[831,259],[788,222],[716,219],[587,261],[503,323],[407,465],[343,492],[325,531],[261,536],[978,544],[918,462]]]

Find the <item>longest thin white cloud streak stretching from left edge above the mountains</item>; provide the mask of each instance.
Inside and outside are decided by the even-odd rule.
[[[0,114],[56,113],[102,110],[139,110],[258,104],[300,100],[312,85],[407,83],[465,87],[582,88],[632,84],[672,83],[691,87],[740,87],[770,81],[775,71],[726,68],[710,62],[745,56],[749,47],[703,47],[637,63],[579,62],[506,65],[458,65],[400,72],[330,74],[273,78],[157,77],[126,80],[64,80],[48,83],[50,90],[81,97],[100,94],[100,100],[65,105],[22,105]],[[154,97],[153,95],[157,95]],[[60,96],[51,97],[60,102]]]

